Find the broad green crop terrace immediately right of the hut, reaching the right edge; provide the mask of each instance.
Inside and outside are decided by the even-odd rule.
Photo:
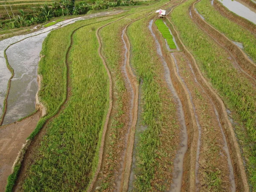
[[[236,126],[236,134],[243,148],[247,163],[248,180],[256,190],[256,95],[250,82],[241,76],[228,59],[228,55],[198,29],[189,16],[189,0],[172,12],[172,21],[184,44],[195,56],[196,61],[212,86],[218,90],[225,105],[233,111],[234,119],[245,129]],[[180,19],[182,18],[182,20]]]

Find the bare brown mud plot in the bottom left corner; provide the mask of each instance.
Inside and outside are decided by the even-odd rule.
[[[0,191],[5,191],[7,177],[12,173],[12,166],[26,143],[26,139],[34,131],[40,112],[9,125],[0,127]]]

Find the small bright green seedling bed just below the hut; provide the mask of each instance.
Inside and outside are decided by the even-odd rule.
[[[163,23],[163,20],[162,19],[157,19],[155,21],[155,24],[156,24],[158,30],[162,33],[163,38],[166,39],[170,49],[176,49],[176,45],[175,45],[175,43],[172,39],[172,35],[169,31],[169,28],[166,26],[165,23]]]

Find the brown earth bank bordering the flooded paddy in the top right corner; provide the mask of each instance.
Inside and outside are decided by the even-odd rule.
[[[240,26],[244,27],[245,29],[256,35],[256,25],[254,23],[244,19],[243,17],[240,17],[239,15],[236,15],[233,12],[230,12],[230,10],[224,7],[218,0],[213,1],[213,6],[215,7],[215,9],[218,10],[218,12],[221,13],[221,15],[229,18],[234,23],[239,24]]]

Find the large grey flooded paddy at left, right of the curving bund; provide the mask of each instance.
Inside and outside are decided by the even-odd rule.
[[[9,64],[15,71],[8,96],[3,124],[15,122],[35,110],[38,90],[37,68],[44,39],[49,32],[27,38],[6,50]],[[11,56],[9,56],[11,55]]]

